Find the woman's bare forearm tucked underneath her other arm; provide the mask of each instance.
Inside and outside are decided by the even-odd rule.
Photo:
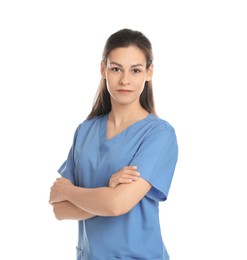
[[[69,201],[56,202],[53,204],[53,211],[58,220],[84,220],[94,217],[87,211],[78,208],[76,205]]]

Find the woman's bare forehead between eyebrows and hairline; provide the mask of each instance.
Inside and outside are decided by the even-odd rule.
[[[108,62],[121,65],[146,64],[144,52],[136,46],[116,48],[109,53]]]

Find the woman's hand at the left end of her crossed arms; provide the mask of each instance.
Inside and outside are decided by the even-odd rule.
[[[64,177],[57,178],[51,187],[49,203],[53,204],[55,202],[65,201],[64,193],[68,186],[73,186],[69,179]]]

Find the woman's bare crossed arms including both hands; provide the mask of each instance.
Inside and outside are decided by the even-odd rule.
[[[60,220],[122,215],[151,189],[151,184],[139,176],[136,167],[126,166],[111,176],[109,187],[91,189],[77,187],[66,178],[58,178],[51,187],[49,202]]]

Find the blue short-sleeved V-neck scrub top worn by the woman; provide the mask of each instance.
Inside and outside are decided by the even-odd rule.
[[[177,162],[174,128],[149,114],[107,139],[107,120],[108,114],[78,126],[68,158],[58,172],[76,186],[96,188],[108,186],[113,173],[133,165],[152,188],[124,215],[79,221],[77,260],[168,260],[158,206],[167,199]]]

